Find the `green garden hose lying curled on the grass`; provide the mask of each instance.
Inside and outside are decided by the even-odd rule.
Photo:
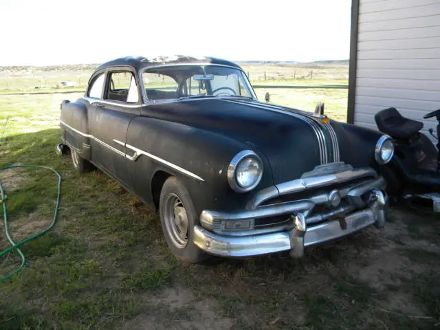
[[[10,248],[8,248],[8,249],[6,249],[6,250],[4,250],[3,252],[0,253],[0,258],[2,256],[4,256],[5,254],[11,252],[12,250],[17,250],[17,253],[21,257],[21,265],[20,265],[20,267],[18,267],[17,270],[15,270],[14,272],[12,272],[12,273],[4,276],[4,277],[0,277],[0,281],[3,281],[5,279],[7,279],[7,278],[10,278],[14,274],[17,274],[25,266],[26,257],[23,254],[23,252],[21,252],[21,250],[19,249],[19,246],[23,245],[25,243],[28,243],[29,241],[32,241],[33,239],[37,239],[40,236],[43,236],[46,232],[48,232],[49,230],[54,228],[56,220],[58,219],[58,208],[60,207],[60,199],[61,199],[61,175],[60,175],[60,173],[58,173],[53,168],[46,167],[46,166],[38,166],[38,165],[11,165],[11,166],[0,167],[0,170],[6,170],[8,168],[19,168],[19,167],[46,168],[47,170],[52,170],[52,172],[55,173],[58,176],[58,197],[56,197],[56,206],[55,206],[54,218],[52,219],[51,225],[49,227],[47,227],[45,230],[43,230],[42,232],[39,232],[38,234],[35,234],[34,236],[29,237],[28,239],[24,239],[23,241],[21,241],[19,243],[14,243],[14,241],[12,240],[12,238],[11,238],[11,236],[9,234],[8,212],[6,210],[6,199],[8,199],[8,197],[5,195],[5,193],[3,191],[3,186],[1,186],[1,182],[0,182],[0,197],[1,197],[0,203],[2,204],[2,207],[3,207],[3,220],[4,220],[4,223],[5,223],[5,234],[6,234],[6,237],[8,238],[8,241],[12,245]]]

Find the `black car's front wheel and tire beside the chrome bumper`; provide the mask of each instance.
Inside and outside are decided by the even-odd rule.
[[[197,214],[188,190],[176,177],[168,177],[162,186],[159,212],[166,243],[177,259],[200,263],[209,258],[194,244]]]

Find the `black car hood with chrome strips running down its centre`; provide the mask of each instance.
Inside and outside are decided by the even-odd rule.
[[[341,153],[353,133],[312,113],[239,98],[188,99],[152,104],[147,115],[227,135],[267,159],[274,184],[298,179],[320,164],[349,161],[368,166],[364,157]],[[353,143],[357,141],[354,134]],[[353,164],[354,163],[356,164]]]

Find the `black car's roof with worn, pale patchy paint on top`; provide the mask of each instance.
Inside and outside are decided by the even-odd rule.
[[[208,56],[186,56],[186,55],[170,55],[170,56],[158,56],[155,58],[146,58],[143,56],[126,56],[117,58],[113,61],[109,61],[100,65],[96,71],[105,69],[108,67],[133,67],[136,71],[143,69],[144,67],[153,67],[160,65],[187,65],[187,64],[210,64],[210,65],[227,65],[228,67],[236,67],[241,69],[239,65],[230,61],[222,60],[221,58],[214,58]]]

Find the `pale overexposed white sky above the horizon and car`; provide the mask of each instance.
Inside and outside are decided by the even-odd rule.
[[[349,58],[351,0],[0,0],[0,66]]]

